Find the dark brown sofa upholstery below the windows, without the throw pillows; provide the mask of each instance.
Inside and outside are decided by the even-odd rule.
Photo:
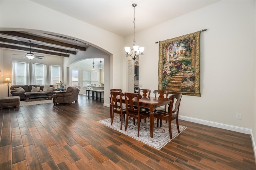
[[[20,100],[25,100],[26,96],[24,94],[24,92],[19,92],[17,88],[23,88],[25,92],[31,92],[32,90],[32,86],[35,88],[40,87],[40,89],[38,91],[43,91],[44,90],[44,86],[39,86],[39,85],[12,85],[10,88],[10,94],[12,96],[20,96]],[[48,85],[49,86],[49,85]],[[50,88],[47,89],[47,91],[53,91],[55,86],[54,85],[50,85]],[[34,89],[34,88],[33,88]],[[17,90],[17,91],[16,91]],[[40,94],[38,94],[40,95]]]

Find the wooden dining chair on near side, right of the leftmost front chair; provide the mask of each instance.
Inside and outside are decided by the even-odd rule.
[[[140,99],[142,96],[138,93],[124,93],[125,103],[126,103],[126,123],[125,129],[127,130],[128,126],[128,117],[137,119],[138,121],[138,137],[140,135],[140,120],[149,117],[149,112],[140,110]],[[134,102],[135,101],[135,102]],[[134,121],[135,124],[135,121]]]

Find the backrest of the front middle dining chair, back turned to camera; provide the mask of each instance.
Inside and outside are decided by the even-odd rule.
[[[124,93],[125,103],[126,103],[126,113],[134,112],[140,115],[140,99],[142,96],[138,93]],[[134,102],[136,101],[136,102]]]

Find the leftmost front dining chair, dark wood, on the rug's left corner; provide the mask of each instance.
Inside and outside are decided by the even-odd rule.
[[[122,96],[124,96],[124,93],[122,92],[115,92],[115,91],[110,92],[111,104],[112,104],[112,115],[110,117],[111,125],[113,124],[114,113],[118,113],[120,115],[120,121],[121,121],[120,130],[122,130],[122,125],[123,125],[122,119],[124,117],[124,121],[125,121],[125,114],[126,114],[126,108],[123,107],[122,100],[120,100]]]

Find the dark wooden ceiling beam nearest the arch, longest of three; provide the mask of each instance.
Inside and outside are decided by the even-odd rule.
[[[63,47],[68,47],[68,48],[73,48],[73,49],[77,49],[80,51],[86,51],[85,47],[80,47],[77,45],[72,45],[72,44],[68,44],[68,43],[62,43],[60,41],[55,41],[52,39],[46,39],[43,37],[38,37],[35,35],[29,35],[29,34],[25,34],[25,33],[20,33],[20,32],[16,32],[16,31],[0,31],[1,34],[4,35],[12,35],[12,36],[16,36],[16,37],[23,37],[23,38],[27,38],[27,39],[33,39],[36,41],[41,41],[44,43],[49,43],[49,44],[54,44],[54,45],[59,45],[59,46],[63,46]]]

